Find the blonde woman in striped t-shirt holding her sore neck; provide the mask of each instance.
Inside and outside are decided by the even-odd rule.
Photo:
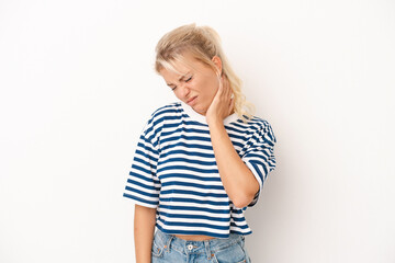
[[[137,263],[250,262],[244,211],[275,167],[272,128],[247,111],[211,27],[178,27],[156,53],[179,102],[153,113],[127,180]]]

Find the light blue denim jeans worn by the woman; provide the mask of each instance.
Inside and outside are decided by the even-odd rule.
[[[250,263],[245,237],[230,233],[226,239],[188,241],[173,235],[155,232],[151,263]]]

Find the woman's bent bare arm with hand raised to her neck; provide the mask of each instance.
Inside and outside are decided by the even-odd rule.
[[[217,94],[206,112],[206,121],[224,188],[234,205],[241,208],[252,202],[259,191],[259,183],[236,152],[224,126],[224,118],[234,107],[230,95],[232,90],[223,77]]]

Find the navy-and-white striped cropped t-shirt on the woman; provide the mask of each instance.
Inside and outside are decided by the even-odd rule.
[[[270,124],[259,117],[247,124],[233,114],[224,119],[229,138],[260,190],[275,168],[275,137]],[[205,116],[176,102],[151,114],[139,138],[127,178],[125,197],[157,208],[156,227],[170,235],[205,235],[227,238],[230,232],[249,235],[247,207],[234,206],[216,165]]]

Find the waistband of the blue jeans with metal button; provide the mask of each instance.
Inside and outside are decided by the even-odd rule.
[[[192,241],[177,238],[174,235],[169,235],[157,229],[154,242],[159,248],[167,248],[177,250],[183,254],[198,253],[215,253],[226,247],[233,245],[236,242],[244,243],[245,237],[242,235],[230,233],[229,238],[214,238],[204,241]]]

